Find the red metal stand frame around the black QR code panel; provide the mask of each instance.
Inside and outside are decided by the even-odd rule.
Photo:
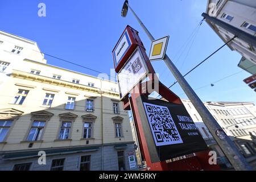
[[[130,27],[130,26],[127,26]],[[130,27],[131,28],[131,27]],[[136,36],[137,42],[141,42],[141,39],[139,39],[138,31],[135,31],[133,28],[131,28]],[[119,42],[119,41],[118,41]],[[150,81],[147,81],[147,84],[154,85],[154,81],[159,81],[159,78],[155,74],[155,70],[152,67],[152,64],[150,63],[150,60],[148,60],[145,48],[143,46],[143,43],[139,44],[139,48],[141,49],[142,55],[144,57],[144,60],[146,62],[146,65],[148,67],[148,71],[151,74],[148,74],[148,78]],[[131,52],[132,53],[132,52]],[[124,63],[125,64],[125,63]],[[131,91],[131,97],[126,96],[123,98],[123,108],[125,110],[131,110],[133,111],[133,117],[135,122],[135,130],[138,134],[138,141],[139,146],[141,149],[141,154],[143,155],[143,158],[146,160],[147,163],[147,170],[150,171],[176,171],[176,170],[220,170],[220,167],[216,165],[210,165],[208,163],[209,160],[209,151],[201,151],[197,152],[196,156],[193,156],[191,158],[183,159],[183,160],[177,160],[176,162],[166,163],[166,162],[156,162],[152,163],[150,159],[150,154],[148,151],[148,146],[146,142],[146,134],[143,131],[141,117],[139,114],[139,108],[137,106],[136,98],[141,97],[142,94],[148,96],[150,93],[144,93],[142,90],[147,89],[147,84],[142,84],[141,82],[137,85],[137,88],[139,86],[139,93],[135,93],[134,90]],[[162,84],[162,82],[159,81],[159,94],[163,96],[167,101],[183,105],[180,98],[172,92],[170,89],[168,89],[165,85]]]

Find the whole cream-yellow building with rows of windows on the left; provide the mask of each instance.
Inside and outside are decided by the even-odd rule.
[[[2,46],[9,36],[22,39],[0,37],[1,60],[19,64],[2,73],[0,170],[136,170],[117,83],[46,64],[33,53],[9,60],[7,53],[16,56]]]

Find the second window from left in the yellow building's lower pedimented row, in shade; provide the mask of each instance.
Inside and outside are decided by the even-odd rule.
[[[32,123],[30,133],[27,136],[27,141],[40,140],[42,138],[42,133],[45,125],[45,121],[34,121]]]

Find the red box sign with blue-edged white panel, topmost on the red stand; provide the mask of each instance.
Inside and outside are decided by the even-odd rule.
[[[130,46],[129,49],[127,49],[127,52],[122,57],[122,59],[119,61],[118,65],[115,65],[114,50],[118,46],[118,44],[119,44],[123,34],[125,34],[125,31],[127,31],[127,34],[129,35],[129,38],[131,40],[131,46]],[[129,59],[130,55],[133,53],[135,48],[137,48],[137,46],[140,46],[140,47],[144,48],[144,45],[143,45],[141,39],[139,38],[139,32],[137,30],[134,30],[129,25],[127,25],[127,27],[123,31],[121,37],[119,38],[117,44],[115,44],[115,47],[114,47],[114,49],[112,51],[112,53],[113,53],[113,60],[114,60],[114,67],[115,67],[115,72],[116,73],[118,73],[120,71],[120,69],[123,67],[123,65],[125,65],[126,61]]]

